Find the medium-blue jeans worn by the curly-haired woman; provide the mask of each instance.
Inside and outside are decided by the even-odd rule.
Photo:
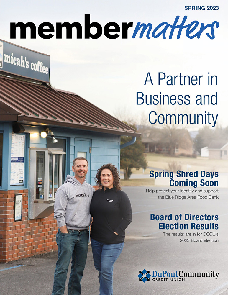
[[[104,244],[91,239],[94,266],[99,271],[100,295],[112,295],[114,262],[123,250],[124,243]]]

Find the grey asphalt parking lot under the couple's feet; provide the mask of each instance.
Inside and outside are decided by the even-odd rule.
[[[220,189],[220,201],[160,200],[156,194],[146,193],[144,187],[125,187],[132,203],[132,223],[126,230],[122,254],[114,265],[113,294],[123,295],[228,295],[227,259],[227,196]],[[183,203],[184,202],[184,203]],[[221,206],[221,202],[223,206]],[[180,236],[165,236],[158,222],[150,221],[150,214],[180,212],[219,215],[219,242],[180,242]],[[175,230],[175,233],[180,231]],[[185,233],[184,231],[181,231]],[[187,231],[193,232],[193,231]],[[37,255],[9,263],[0,263],[0,294],[50,295],[57,252]],[[140,270],[157,272],[217,272],[218,278],[188,277],[185,280],[139,281]],[[154,271],[154,272],[153,272]],[[69,272],[68,272],[69,275]],[[99,294],[98,273],[93,265],[89,246],[86,268],[82,279],[82,294]],[[64,295],[67,295],[67,288]]]

